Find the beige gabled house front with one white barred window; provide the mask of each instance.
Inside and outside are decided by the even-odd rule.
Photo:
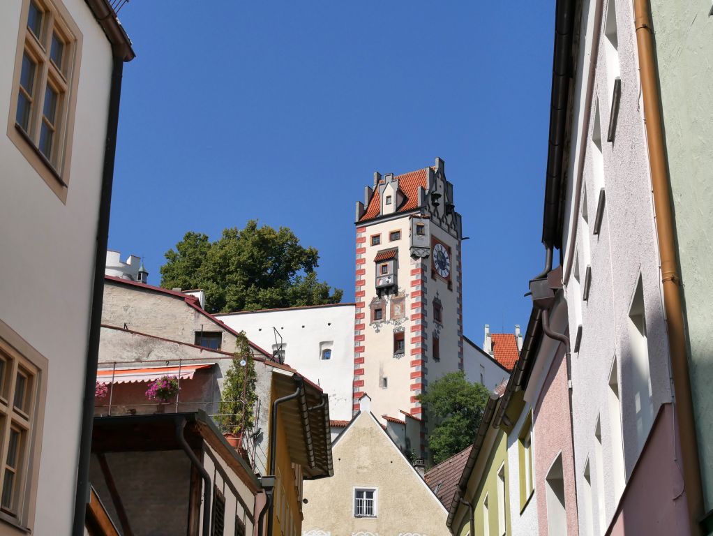
[[[304,482],[302,536],[446,536],[446,508],[364,395],[332,445],[334,476]]]

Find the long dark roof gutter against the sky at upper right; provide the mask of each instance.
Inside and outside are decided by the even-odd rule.
[[[550,101],[550,140],[547,151],[545,209],[542,241],[545,248],[561,249],[560,186],[565,151],[565,131],[572,74],[572,38],[575,16],[574,0],[558,0],[555,9],[555,54],[552,66],[552,99]]]

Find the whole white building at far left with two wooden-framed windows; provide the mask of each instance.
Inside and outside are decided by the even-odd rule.
[[[83,531],[121,73],[133,57],[107,0],[0,3],[3,535]]]

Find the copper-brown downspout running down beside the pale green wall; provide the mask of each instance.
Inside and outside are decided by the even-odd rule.
[[[649,152],[651,188],[654,198],[656,231],[661,256],[661,280],[664,310],[669,336],[671,368],[674,383],[674,405],[681,441],[684,489],[692,534],[701,534],[699,520],[703,515],[703,490],[696,427],[694,422],[691,380],[684,333],[681,278],[678,273],[674,221],[671,210],[670,178],[666,163],[662,129],[660,94],[648,0],[634,0],[637,50],[641,89],[644,99],[644,126]]]

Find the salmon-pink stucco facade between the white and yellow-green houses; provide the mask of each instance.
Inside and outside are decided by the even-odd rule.
[[[547,357],[547,356],[542,356]],[[540,400],[533,412],[535,499],[537,500],[538,528],[548,534],[548,512],[545,478],[558,455],[562,455],[562,470],[567,512],[567,534],[578,536],[577,493],[575,491],[574,451],[570,427],[570,400],[567,386],[565,349],[560,345],[552,360],[540,391]],[[515,445],[517,447],[517,445]],[[515,452],[517,449],[515,448]],[[515,496],[511,493],[511,502]]]

